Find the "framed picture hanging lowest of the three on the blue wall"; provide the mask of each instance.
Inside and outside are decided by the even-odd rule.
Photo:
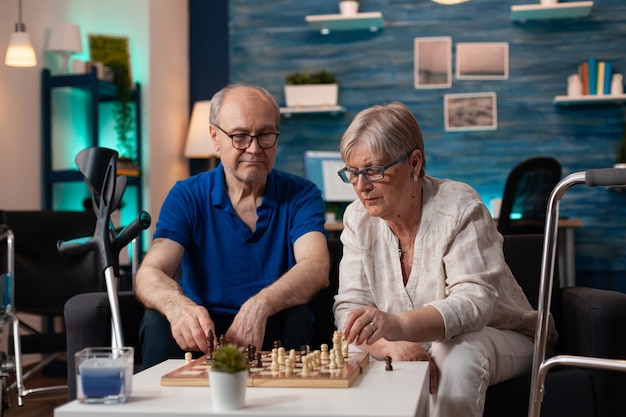
[[[445,94],[443,100],[446,131],[497,129],[496,93]]]

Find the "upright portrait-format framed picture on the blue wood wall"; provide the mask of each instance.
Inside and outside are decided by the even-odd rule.
[[[452,86],[452,38],[415,38],[415,88]]]

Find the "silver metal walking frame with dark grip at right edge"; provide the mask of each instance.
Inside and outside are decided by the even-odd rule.
[[[539,417],[541,402],[545,395],[547,373],[556,366],[574,366],[626,372],[626,361],[575,355],[557,355],[546,359],[548,342],[548,318],[552,297],[552,280],[559,223],[559,205],[563,194],[574,185],[626,186],[626,169],[606,168],[572,173],[563,178],[552,190],[548,199],[545,235],[541,262],[541,281],[537,308],[537,328],[533,353],[532,378],[530,385],[529,417]]]

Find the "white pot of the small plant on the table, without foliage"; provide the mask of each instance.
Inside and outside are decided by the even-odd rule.
[[[238,410],[244,407],[248,370],[216,372],[209,369],[209,381],[214,412]]]

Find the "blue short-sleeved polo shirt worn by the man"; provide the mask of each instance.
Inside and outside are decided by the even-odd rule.
[[[294,242],[324,230],[324,202],[310,181],[272,170],[251,232],[237,216],[224,168],[178,181],[170,190],[154,238],[185,248],[181,286],[209,313],[236,314],[251,296],[294,264]]]

